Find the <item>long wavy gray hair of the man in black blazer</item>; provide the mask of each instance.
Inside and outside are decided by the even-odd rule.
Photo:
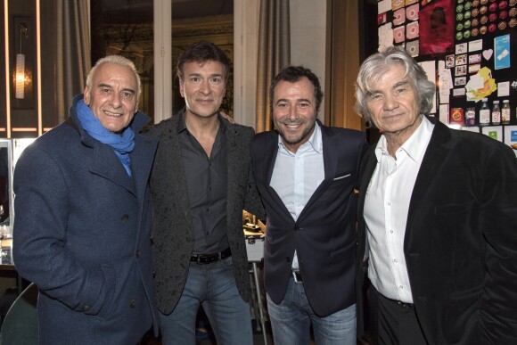
[[[372,114],[367,108],[367,97],[372,94],[375,84],[382,78],[382,75],[394,64],[399,64],[406,70],[405,77],[409,79],[416,91],[418,113],[429,115],[431,112],[436,86],[427,79],[423,68],[404,48],[390,46],[381,53],[370,55],[359,69],[356,81],[355,110],[363,119],[368,121],[372,119]]]

